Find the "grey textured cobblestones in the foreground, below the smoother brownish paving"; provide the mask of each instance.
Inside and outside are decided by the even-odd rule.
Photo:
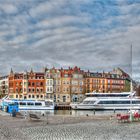
[[[23,128],[32,140],[139,140],[139,123],[118,124],[114,121],[95,121],[78,124]]]

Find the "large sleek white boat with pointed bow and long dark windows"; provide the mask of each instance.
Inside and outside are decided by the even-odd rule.
[[[71,104],[71,108],[79,110],[139,110],[140,99],[136,97],[87,97],[82,103]]]

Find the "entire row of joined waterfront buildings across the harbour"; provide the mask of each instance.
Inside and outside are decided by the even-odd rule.
[[[131,78],[121,69],[112,72],[85,72],[79,67],[45,68],[43,72],[16,73],[1,77],[2,94],[14,99],[52,99],[58,104],[80,102],[88,92],[127,92]]]

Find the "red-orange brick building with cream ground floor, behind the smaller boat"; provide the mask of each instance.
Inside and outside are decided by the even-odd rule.
[[[44,73],[30,72],[14,73],[9,75],[9,97],[13,99],[44,99]]]

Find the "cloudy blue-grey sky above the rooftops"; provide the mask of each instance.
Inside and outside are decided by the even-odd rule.
[[[120,67],[140,81],[140,0],[0,0],[0,75]]]

